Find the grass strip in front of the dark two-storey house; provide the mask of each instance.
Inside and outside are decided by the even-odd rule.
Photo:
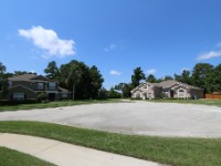
[[[96,103],[117,103],[123,102],[120,100],[104,100],[104,101],[59,101],[49,103],[33,103],[33,104],[17,104],[17,105],[0,105],[0,112],[3,111],[18,111],[18,110],[32,110],[32,108],[46,108],[46,107],[60,107],[60,106],[72,106],[81,104],[96,104]]]

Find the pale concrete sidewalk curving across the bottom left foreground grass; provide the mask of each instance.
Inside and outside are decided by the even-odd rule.
[[[160,166],[154,162],[18,134],[0,133],[0,146],[30,154],[60,166]]]

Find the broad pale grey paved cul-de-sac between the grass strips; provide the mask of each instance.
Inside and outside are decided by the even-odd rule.
[[[42,121],[126,134],[221,137],[221,107],[133,102],[0,113],[0,121]]]

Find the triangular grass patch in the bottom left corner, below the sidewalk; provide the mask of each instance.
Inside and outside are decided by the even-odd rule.
[[[0,147],[0,166],[53,166],[53,164],[38,159],[6,147]]]

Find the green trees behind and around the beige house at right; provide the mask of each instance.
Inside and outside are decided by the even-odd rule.
[[[145,75],[141,68],[134,69],[130,83],[119,83],[110,89],[112,97],[130,97],[130,91],[140,82],[159,83],[167,80],[176,80],[189,85],[201,87],[204,93],[221,93],[221,64],[197,63],[192,70],[183,70],[181,74],[166,75],[157,79],[154,74]]]

